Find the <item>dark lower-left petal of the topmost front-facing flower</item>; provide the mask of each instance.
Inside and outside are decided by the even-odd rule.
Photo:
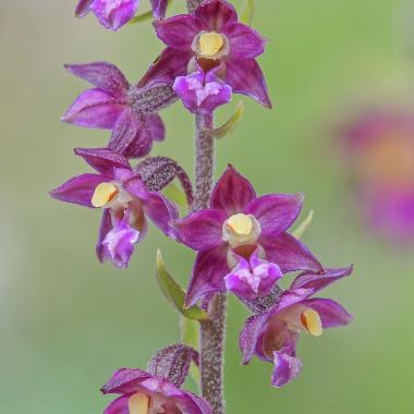
[[[191,50],[184,52],[172,48],[163,49],[139,82],[139,86],[156,83],[172,85],[176,76],[183,76],[187,73],[187,65],[192,54]]]

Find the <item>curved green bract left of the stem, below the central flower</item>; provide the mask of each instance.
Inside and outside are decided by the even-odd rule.
[[[198,306],[184,308],[185,291],[167,271],[160,251],[157,252],[157,280],[165,296],[182,315],[194,320],[208,319],[208,314]]]

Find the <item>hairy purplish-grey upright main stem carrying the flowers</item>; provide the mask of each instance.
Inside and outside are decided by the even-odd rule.
[[[215,141],[205,129],[212,127],[212,114],[196,115],[195,210],[208,208],[215,168]],[[214,414],[224,414],[226,294],[209,304],[210,320],[202,322],[200,372],[203,397]]]

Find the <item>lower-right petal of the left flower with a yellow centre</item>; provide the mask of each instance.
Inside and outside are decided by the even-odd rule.
[[[144,203],[145,215],[156,224],[163,233],[173,236],[171,221],[179,217],[176,207],[161,194],[148,193]]]

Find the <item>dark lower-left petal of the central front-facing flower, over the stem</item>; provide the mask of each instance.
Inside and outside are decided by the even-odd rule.
[[[227,246],[219,245],[207,252],[200,252],[195,259],[185,306],[190,307],[198,300],[214,292],[224,292],[224,276],[229,272]]]

